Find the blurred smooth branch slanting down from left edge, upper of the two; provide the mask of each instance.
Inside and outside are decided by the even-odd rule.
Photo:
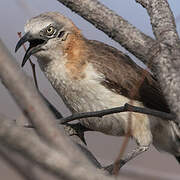
[[[81,157],[81,161],[89,161],[80,153],[79,149],[58,128],[56,120],[32,81],[18,69],[15,59],[0,41],[0,77],[9,89],[17,104],[24,110],[25,115],[31,120],[41,138],[49,144],[54,144],[69,156]],[[68,149],[68,151],[67,151]]]

